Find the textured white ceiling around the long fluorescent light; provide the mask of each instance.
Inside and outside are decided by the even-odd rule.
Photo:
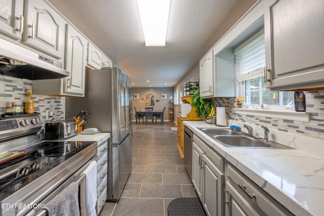
[[[215,44],[212,35],[239,1],[172,0],[166,47],[145,47],[136,0],[49,0],[133,87],[174,87]]]

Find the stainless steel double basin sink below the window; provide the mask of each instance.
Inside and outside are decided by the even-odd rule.
[[[251,135],[232,131],[225,128],[198,128],[209,137],[216,140],[225,147],[245,147],[245,148],[271,148],[271,149],[292,149],[276,142],[265,142],[261,138]]]

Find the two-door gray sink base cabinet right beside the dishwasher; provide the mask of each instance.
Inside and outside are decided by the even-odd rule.
[[[207,215],[223,215],[223,157],[193,136],[192,183]]]

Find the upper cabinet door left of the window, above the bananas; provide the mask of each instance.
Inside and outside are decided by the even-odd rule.
[[[199,88],[201,98],[214,97],[213,58],[214,55],[211,50],[199,61]]]

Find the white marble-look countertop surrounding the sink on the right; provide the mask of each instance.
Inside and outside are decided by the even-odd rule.
[[[294,214],[323,214],[324,157],[300,149],[228,148],[197,129],[216,128],[214,124],[203,121],[183,123]]]

